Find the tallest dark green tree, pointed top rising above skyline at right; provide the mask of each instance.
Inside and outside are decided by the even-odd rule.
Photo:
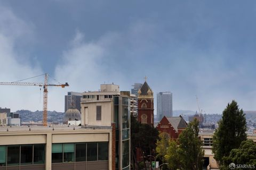
[[[232,149],[236,149],[246,140],[246,118],[243,110],[238,108],[235,100],[227,105],[219,121],[219,128],[213,135],[214,159],[222,168],[223,158],[229,156]]]

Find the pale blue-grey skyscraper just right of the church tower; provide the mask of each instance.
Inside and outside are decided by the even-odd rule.
[[[172,117],[172,93],[169,91],[157,93],[157,118]]]

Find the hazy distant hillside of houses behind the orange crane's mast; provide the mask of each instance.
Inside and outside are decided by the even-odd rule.
[[[43,111],[31,112],[28,110],[16,111],[20,114],[21,122],[38,122],[43,120]],[[63,122],[63,117],[65,113],[48,111],[47,113],[47,122]]]

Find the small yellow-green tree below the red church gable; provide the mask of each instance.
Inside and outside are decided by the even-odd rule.
[[[167,148],[169,148],[169,140],[169,134],[162,132],[159,134],[159,139],[156,142],[156,156],[163,163],[165,163],[164,156],[167,154]]]

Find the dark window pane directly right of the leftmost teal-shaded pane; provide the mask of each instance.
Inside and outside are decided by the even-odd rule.
[[[19,165],[20,164],[20,146],[13,145],[7,146],[7,165]]]

